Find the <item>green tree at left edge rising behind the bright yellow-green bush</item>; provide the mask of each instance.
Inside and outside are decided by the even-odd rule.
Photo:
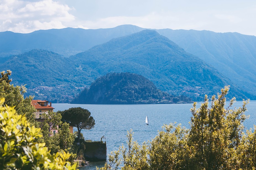
[[[31,106],[32,96],[28,96],[24,99],[23,94],[26,93],[25,86],[14,86],[11,85],[10,82],[12,80],[9,79],[11,75],[11,71],[7,70],[1,72],[0,76],[0,98],[5,98],[4,104],[8,106],[15,106],[15,110],[17,114],[25,116],[28,122],[35,125],[35,108]]]

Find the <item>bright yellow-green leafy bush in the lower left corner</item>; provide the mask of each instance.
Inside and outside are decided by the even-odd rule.
[[[0,169],[76,169],[67,161],[69,153],[51,155],[44,143],[35,142],[40,129],[3,104],[4,98],[0,99]]]

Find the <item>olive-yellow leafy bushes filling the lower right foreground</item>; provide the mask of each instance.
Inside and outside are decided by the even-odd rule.
[[[142,146],[128,132],[128,148],[112,153],[100,169],[117,169],[121,162],[124,170],[255,169],[256,126],[245,132],[242,124],[249,101],[234,108],[233,98],[225,108],[228,90],[225,87],[218,96],[212,96],[210,107],[207,95],[200,108],[194,103],[190,129],[175,123],[164,125],[151,142]]]

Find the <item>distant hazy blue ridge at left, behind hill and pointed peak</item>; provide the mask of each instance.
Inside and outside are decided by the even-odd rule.
[[[38,30],[28,34],[0,32],[0,57],[17,55],[32,49],[45,49],[65,57],[89,48],[143,30],[133,25],[107,29],[63,28]]]

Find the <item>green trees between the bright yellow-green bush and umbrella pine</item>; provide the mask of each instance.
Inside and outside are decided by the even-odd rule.
[[[35,108],[31,106],[32,96],[24,99],[23,94],[26,92],[25,86],[10,85],[12,80],[9,79],[11,71],[2,71],[0,76],[0,97],[5,98],[4,105],[15,107],[16,113],[30,123],[30,126],[35,125],[40,127],[39,134],[41,137],[36,137],[34,142],[44,143],[51,154],[57,152],[70,152],[69,161],[74,163],[73,160],[76,154],[72,153],[72,145],[74,142],[74,135],[70,134],[69,125],[61,122],[61,114],[49,112],[42,114],[43,122],[35,121],[34,112]],[[58,126],[61,128],[58,129]],[[51,130],[58,129],[59,133],[53,135]]]

